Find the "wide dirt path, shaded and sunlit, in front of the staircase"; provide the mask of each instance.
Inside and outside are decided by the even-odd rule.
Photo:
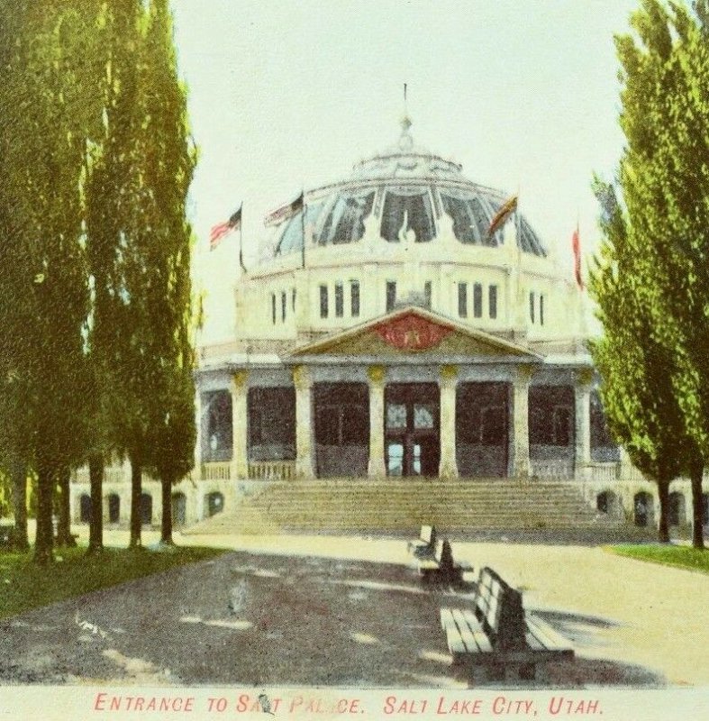
[[[0,682],[462,685],[438,609],[470,599],[423,589],[401,540],[178,542],[241,551],[0,622]],[[709,577],[594,548],[454,543],[454,552],[523,586],[525,606],[574,642],[577,660],[550,664],[543,685],[709,684]]]

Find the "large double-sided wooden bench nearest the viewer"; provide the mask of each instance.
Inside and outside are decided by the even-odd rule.
[[[493,678],[533,679],[537,663],[572,659],[574,649],[541,618],[525,614],[522,593],[490,568],[480,571],[474,609],[441,608],[454,664]]]

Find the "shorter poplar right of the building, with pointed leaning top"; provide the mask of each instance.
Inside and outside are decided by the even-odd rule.
[[[601,373],[601,397],[611,434],[633,465],[657,483],[659,540],[669,541],[669,484],[700,458],[686,433],[684,414],[668,379],[677,372],[674,353],[653,337],[652,267],[645,238],[629,228],[614,187],[595,181],[602,207],[604,245],[591,274],[604,334],[591,344]]]

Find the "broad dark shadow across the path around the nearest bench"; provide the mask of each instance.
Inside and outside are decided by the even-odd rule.
[[[424,587],[401,565],[230,552],[6,619],[0,682],[465,688],[439,608],[472,607],[472,590]],[[540,615],[582,656],[597,645],[594,631],[613,625]],[[635,666],[581,657],[510,685],[661,683]]]

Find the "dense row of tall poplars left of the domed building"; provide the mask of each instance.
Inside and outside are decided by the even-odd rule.
[[[100,519],[103,461],[130,457],[139,544],[141,470],[191,465],[195,152],[167,0],[18,0],[0,32],[0,461],[37,473],[48,561],[71,468],[95,461]]]

